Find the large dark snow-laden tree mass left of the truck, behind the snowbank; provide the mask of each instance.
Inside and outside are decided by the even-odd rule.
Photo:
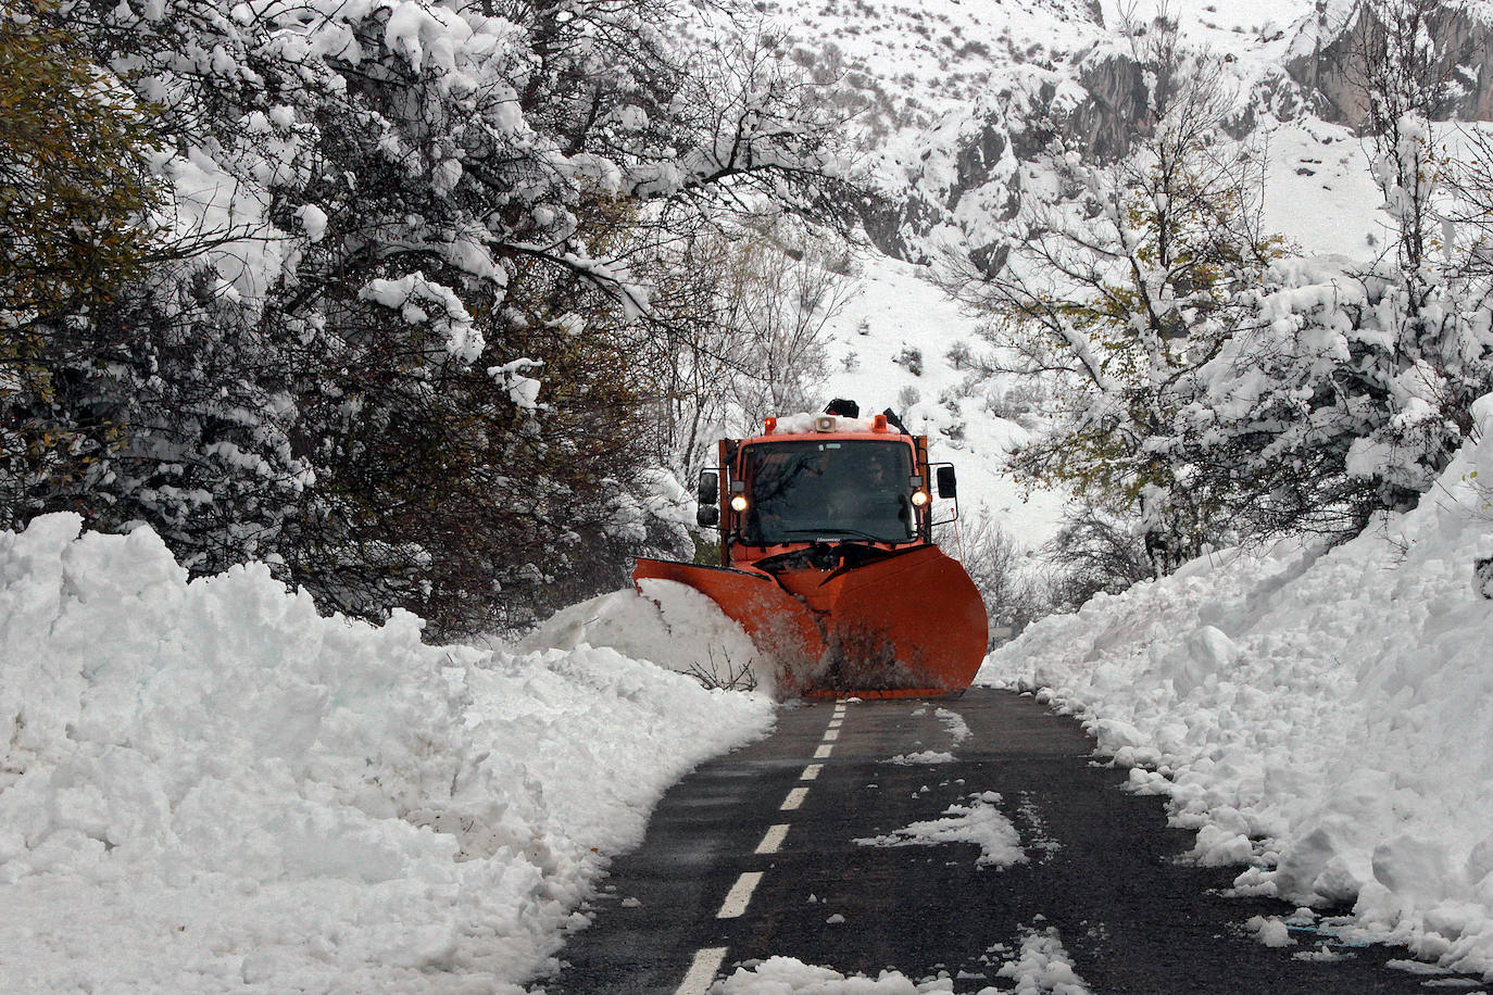
[[[169,195],[131,221],[178,251],[49,327],[87,352],[39,358],[72,371],[60,404],[115,431],[12,522],[146,521],[196,570],[260,556],[446,631],[681,542],[633,428],[633,263],[681,218],[826,215],[842,183],[836,122],[767,48],[705,66],[660,0],[34,10],[152,109]]]

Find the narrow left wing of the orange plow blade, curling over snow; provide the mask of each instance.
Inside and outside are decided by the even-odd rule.
[[[814,616],[767,574],[672,559],[639,559],[633,583],[639,580],[675,580],[706,595],[746,630],[757,649],[778,659],[790,680],[793,674],[812,670],[824,653]]]

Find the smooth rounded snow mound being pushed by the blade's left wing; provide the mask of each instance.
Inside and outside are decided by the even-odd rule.
[[[733,676],[745,676],[757,691],[776,692],[772,661],[715,601],[673,580],[643,580],[639,586],[642,594],[627,588],[555,612],[518,649],[605,646],[721,686],[732,686]]]

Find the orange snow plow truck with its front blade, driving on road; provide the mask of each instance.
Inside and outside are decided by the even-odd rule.
[[[803,697],[961,694],[985,655],[985,606],[933,527],[957,519],[954,467],[890,410],[767,418],[723,439],[700,473],[697,521],[721,536],[721,565],[639,559],[645,579],[720,604]],[[932,480],[953,498],[935,521]]]

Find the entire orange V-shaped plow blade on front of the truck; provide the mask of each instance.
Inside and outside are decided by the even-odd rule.
[[[633,579],[676,580],[714,600],[805,697],[959,694],[985,656],[979,591],[936,546],[773,576],[639,559]]]

